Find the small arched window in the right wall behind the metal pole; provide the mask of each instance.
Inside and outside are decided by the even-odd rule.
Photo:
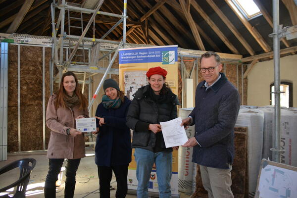
[[[293,83],[281,81],[280,84],[281,93],[281,106],[292,107],[293,106]],[[270,85],[270,104],[274,105],[274,83]]]

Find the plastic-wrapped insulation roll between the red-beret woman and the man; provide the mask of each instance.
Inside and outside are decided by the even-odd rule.
[[[187,118],[192,110],[193,108],[179,109],[179,117]],[[188,138],[194,137],[195,127],[190,126],[186,129],[186,134]],[[193,148],[180,147],[178,149],[178,190],[187,194],[193,193],[193,169],[196,164],[192,162],[192,154]]]

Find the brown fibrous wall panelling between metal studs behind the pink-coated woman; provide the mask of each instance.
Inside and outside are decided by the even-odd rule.
[[[65,52],[65,50],[64,50]],[[86,56],[87,57],[87,56]],[[45,48],[45,109],[50,97],[49,60],[51,49]],[[88,59],[88,58],[86,58]],[[21,151],[43,149],[43,48],[20,46],[20,105],[21,105]],[[58,70],[54,67],[54,76]],[[18,89],[17,89],[17,46],[8,49],[8,152],[18,151]],[[80,87],[82,84],[80,84]],[[57,93],[59,84],[53,84]],[[85,94],[88,98],[88,84]],[[50,130],[46,126],[46,149]]]

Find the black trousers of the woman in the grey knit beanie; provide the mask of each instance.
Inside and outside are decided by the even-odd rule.
[[[110,198],[110,181],[112,177],[112,171],[114,172],[117,190],[115,193],[116,198],[125,198],[128,191],[127,176],[128,165],[120,166],[98,166],[99,176],[99,191],[100,198]]]

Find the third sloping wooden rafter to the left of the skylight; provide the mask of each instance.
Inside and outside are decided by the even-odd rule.
[[[227,37],[222,33],[222,31],[216,26],[216,24],[209,18],[209,16],[203,11],[203,9],[198,5],[196,1],[192,2],[192,6],[198,11],[206,23],[214,30],[214,32],[220,37],[220,39],[225,43],[225,45],[235,54],[239,54],[238,50],[233,46],[233,44],[227,39]]]

